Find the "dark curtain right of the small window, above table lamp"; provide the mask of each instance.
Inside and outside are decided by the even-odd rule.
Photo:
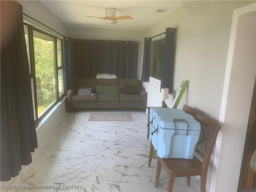
[[[174,58],[175,58],[175,39],[176,29],[166,28],[165,40],[164,40],[164,56],[163,56],[163,68],[161,88],[168,88],[169,94],[173,90],[173,77],[174,77]]]

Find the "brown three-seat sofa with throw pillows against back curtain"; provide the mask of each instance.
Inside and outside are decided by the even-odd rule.
[[[67,92],[68,110],[142,109],[146,112],[147,92],[136,78],[76,77]]]

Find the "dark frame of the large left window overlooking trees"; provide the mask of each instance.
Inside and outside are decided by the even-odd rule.
[[[31,79],[33,80],[33,90],[32,90],[32,96],[33,98],[33,107],[34,107],[34,119],[35,123],[39,124],[39,122],[56,106],[56,104],[61,101],[64,98],[64,90],[62,91],[62,94],[59,95],[59,89],[58,89],[58,70],[63,70],[64,72],[64,64],[63,64],[63,38],[54,36],[50,33],[47,33],[43,30],[40,30],[36,28],[35,26],[32,26],[26,22],[23,23],[24,26],[27,26],[27,36],[28,36],[28,60],[30,62],[30,82]],[[55,75],[55,102],[50,104],[47,108],[47,110],[44,111],[44,113],[40,116],[38,116],[38,100],[37,100],[37,92],[36,92],[36,68],[35,68],[35,57],[34,57],[34,34],[33,31],[36,31],[38,33],[44,34],[46,36],[49,36],[54,39],[54,75]],[[57,39],[61,42],[61,66],[58,67],[58,56],[57,56]],[[64,75],[64,73],[63,73]],[[64,77],[62,77],[62,86],[64,88]]]

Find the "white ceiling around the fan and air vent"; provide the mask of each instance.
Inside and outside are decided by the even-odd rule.
[[[174,12],[188,1],[183,0],[42,0],[52,13],[69,27],[103,28],[120,30],[145,30],[168,14]],[[118,20],[108,24],[100,18],[105,17],[105,8],[116,8],[116,16],[129,15],[132,20]],[[168,9],[156,13],[157,9]]]

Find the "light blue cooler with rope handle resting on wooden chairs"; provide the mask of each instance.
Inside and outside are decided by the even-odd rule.
[[[152,136],[152,143],[156,142],[154,148],[157,150],[157,155],[160,158],[194,158],[201,130],[200,123],[180,109],[154,108],[153,110],[158,116],[156,141],[154,135]]]

